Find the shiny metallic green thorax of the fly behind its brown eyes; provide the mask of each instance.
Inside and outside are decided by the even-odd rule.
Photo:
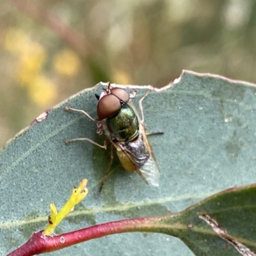
[[[124,104],[114,116],[108,118],[107,125],[113,139],[118,141],[131,141],[139,134],[138,117],[128,104]]]

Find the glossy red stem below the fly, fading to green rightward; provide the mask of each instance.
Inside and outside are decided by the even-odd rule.
[[[42,230],[33,233],[25,244],[7,256],[30,256],[45,252],[54,252],[61,248],[111,234],[125,232],[159,232],[160,219],[161,217],[149,217],[112,221],[54,237],[44,236],[44,230]],[[154,227],[156,221],[158,224]]]

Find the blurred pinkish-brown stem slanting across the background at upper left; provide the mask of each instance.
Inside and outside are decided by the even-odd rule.
[[[45,8],[42,6],[35,4],[35,1],[29,0],[8,0],[10,3],[15,5],[19,10],[28,14],[30,17],[38,20],[39,22],[46,24],[55,31],[63,40],[65,40],[74,51],[76,51],[81,56],[86,55],[86,48],[87,52],[91,51],[92,49],[88,49],[88,45],[86,45],[86,41],[84,37],[74,31],[70,26],[65,24],[63,20],[61,20],[56,14],[51,14],[47,12]]]

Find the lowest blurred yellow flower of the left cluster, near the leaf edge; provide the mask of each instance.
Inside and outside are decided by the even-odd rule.
[[[29,96],[40,106],[49,106],[58,96],[54,83],[45,76],[37,76],[35,81],[29,84]]]

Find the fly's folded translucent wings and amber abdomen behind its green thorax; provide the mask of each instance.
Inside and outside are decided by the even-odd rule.
[[[113,144],[127,172],[136,171],[147,184],[159,186],[159,169],[143,124],[140,124],[140,135],[137,140],[113,142]]]

